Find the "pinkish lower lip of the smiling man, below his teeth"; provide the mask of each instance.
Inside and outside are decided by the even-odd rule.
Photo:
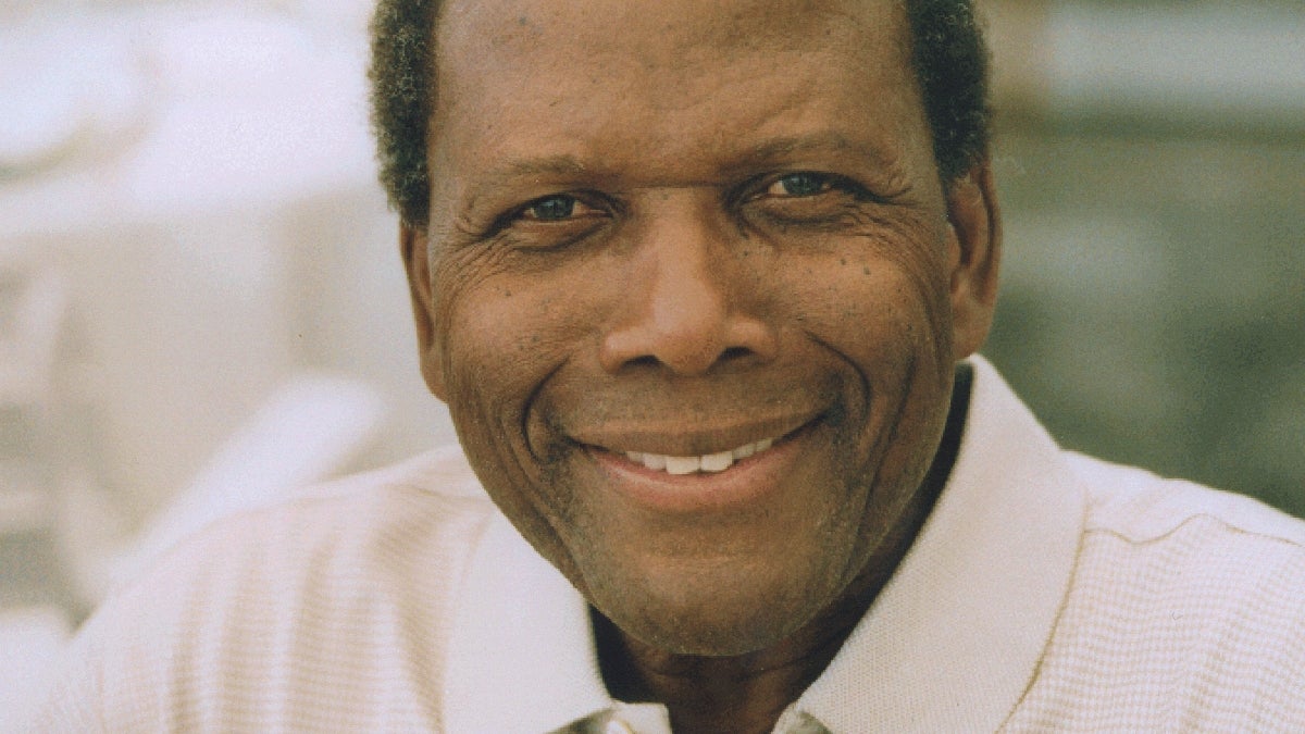
[[[753,505],[779,491],[809,435],[810,426],[715,473],[669,474],[609,451],[590,448],[589,453],[616,491],[641,507],[664,513],[719,512]]]

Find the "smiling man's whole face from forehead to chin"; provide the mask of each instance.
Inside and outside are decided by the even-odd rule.
[[[423,371],[495,502],[645,643],[752,652],[847,593],[987,327],[895,5],[444,10]]]

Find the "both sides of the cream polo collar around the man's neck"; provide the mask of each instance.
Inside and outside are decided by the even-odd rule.
[[[1086,495],[997,371],[974,393],[946,490],[795,712],[833,731],[994,730],[1051,639]],[[585,599],[500,515],[472,555],[445,669],[450,731],[564,729],[613,708]]]

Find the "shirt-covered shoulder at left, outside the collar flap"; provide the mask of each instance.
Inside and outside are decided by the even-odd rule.
[[[450,451],[219,521],[86,623],[51,729],[429,729],[493,513]]]

